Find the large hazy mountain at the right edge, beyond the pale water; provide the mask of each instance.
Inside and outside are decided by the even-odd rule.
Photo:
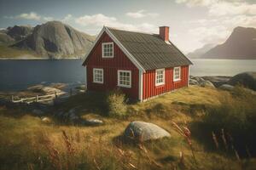
[[[236,27],[230,37],[203,54],[204,59],[256,59],[256,29]]]

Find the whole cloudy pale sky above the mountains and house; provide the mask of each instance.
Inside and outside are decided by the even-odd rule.
[[[256,27],[256,0],[0,0],[0,28],[61,20],[96,35],[102,26],[158,33],[184,53],[221,43],[236,26]]]

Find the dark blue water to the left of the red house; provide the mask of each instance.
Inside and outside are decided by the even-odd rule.
[[[25,89],[55,82],[84,82],[83,60],[0,60],[0,91]]]

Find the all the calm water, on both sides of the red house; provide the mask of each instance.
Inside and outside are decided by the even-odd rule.
[[[256,60],[193,59],[193,76],[234,76],[256,71]],[[53,82],[84,83],[83,60],[0,60],[0,91]]]

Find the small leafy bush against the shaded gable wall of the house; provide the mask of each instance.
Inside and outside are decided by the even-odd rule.
[[[108,116],[126,116],[127,105],[125,99],[125,94],[120,89],[110,91],[106,99]]]

